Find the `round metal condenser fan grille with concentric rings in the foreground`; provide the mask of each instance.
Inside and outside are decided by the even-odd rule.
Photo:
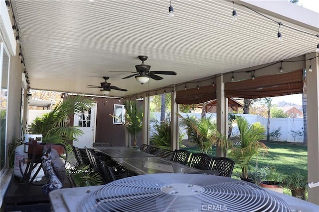
[[[85,212],[288,212],[288,204],[245,181],[201,174],[152,174],[114,181],[81,201]]]

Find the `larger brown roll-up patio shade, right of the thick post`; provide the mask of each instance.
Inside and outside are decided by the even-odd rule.
[[[266,75],[225,84],[226,97],[245,99],[284,96],[303,92],[303,70]]]

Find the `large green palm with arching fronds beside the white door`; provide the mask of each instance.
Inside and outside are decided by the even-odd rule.
[[[68,126],[69,116],[81,113],[93,107],[94,101],[83,96],[67,97],[59,102],[49,113],[37,117],[29,126],[31,134],[42,134],[43,142],[66,143],[77,141],[76,137],[83,134],[77,127]]]

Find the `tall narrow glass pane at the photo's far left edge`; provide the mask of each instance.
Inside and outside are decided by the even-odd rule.
[[[2,49],[3,51],[3,49]],[[1,58],[1,57],[0,57]],[[9,67],[9,57],[3,51],[2,63],[2,78],[1,78],[1,93],[0,93],[0,151],[1,151],[1,170],[5,165],[5,139],[6,139],[6,108],[7,108],[7,94],[8,94],[8,67]],[[1,67],[1,65],[0,65]]]

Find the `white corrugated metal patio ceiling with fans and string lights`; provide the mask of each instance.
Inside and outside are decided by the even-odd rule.
[[[235,1],[173,0],[175,18],[168,18],[169,0],[15,0],[15,16],[26,69],[33,89],[98,94],[85,89],[110,76],[124,96],[189,80],[289,59],[314,52],[318,38],[281,27]],[[288,2],[287,2],[288,3]],[[276,6],[276,3],[274,3]],[[294,5],[297,6],[297,5]],[[306,10],[305,10],[306,11]],[[264,13],[265,14],[265,13]],[[318,34],[279,15],[267,16]],[[175,71],[144,85],[132,73],[149,56],[151,71]]]

